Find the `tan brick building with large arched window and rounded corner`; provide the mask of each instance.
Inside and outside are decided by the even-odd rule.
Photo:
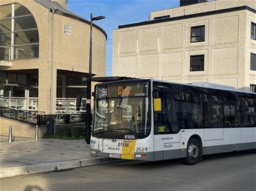
[[[55,114],[73,111],[86,92],[90,23],[66,5],[0,1],[0,105]],[[92,53],[92,73],[104,76],[106,33],[96,24]]]

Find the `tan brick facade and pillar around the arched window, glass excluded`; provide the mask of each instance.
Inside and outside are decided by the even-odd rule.
[[[66,0],[57,0],[64,5]],[[53,113],[56,107],[57,69],[89,73],[89,24],[59,14],[54,15],[53,38],[53,99],[51,99],[51,19],[52,13],[35,1],[4,0],[0,5],[20,3],[33,14],[38,24],[40,55],[31,60],[13,60],[13,66],[6,70],[38,69],[38,110]],[[64,33],[64,26],[71,27],[71,35]],[[92,73],[105,76],[106,37],[102,31],[93,28]]]

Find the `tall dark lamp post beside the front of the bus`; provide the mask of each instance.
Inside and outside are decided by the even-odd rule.
[[[87,144],[90,143],[91,138],[91,57],[92,57],[92,22],[94,20],[101,20],[104,16],[93,17],[91,14],[90,19],[90,48],[89,48],[89,78],[87,83],[87,97],[86,97],[86,135]]]

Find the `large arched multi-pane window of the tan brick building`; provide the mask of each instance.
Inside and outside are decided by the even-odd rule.
[[[1,5],[0,12],[0,60],[38,58],[38,26],[31,12],[18,3]]]

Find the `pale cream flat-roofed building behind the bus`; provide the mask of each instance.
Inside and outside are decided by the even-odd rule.
[[[255,91],[255,0],[181,5],[113,31],[113,75]]]

